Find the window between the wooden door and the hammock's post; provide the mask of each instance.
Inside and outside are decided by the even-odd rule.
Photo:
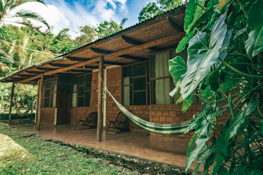
[[[72,107],[90,106],[92,74],[74,77],[72,82]]]

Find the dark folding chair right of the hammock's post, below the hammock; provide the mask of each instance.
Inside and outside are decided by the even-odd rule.
[[[118,129],[120,129],[121,131],[130,131],[129,128],[124,128],[125,122],[127,122],[127,116],[125,116],[124,113],[119,112],[117,118],[115,119],[115,121],[110,121],[110,124],[107,126],[107,131],[106,134],[116,134]],[[111,126],[112,124],[112,126]],[[114,132],[109,132],[109,128],[111,128],[112,130],[114,129]]]

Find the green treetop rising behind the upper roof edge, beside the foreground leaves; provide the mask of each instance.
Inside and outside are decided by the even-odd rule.
[[[146,19],[181,6],[182,4],[183,2],[181,0],[157,0],[156,3],[149,2],[141,9],[138,17],[139,22],[145,21]]]

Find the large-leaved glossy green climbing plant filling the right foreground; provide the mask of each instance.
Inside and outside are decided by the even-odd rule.
[[[262,0],[187,5],[176,51],[189,42],[188,59],[186,66],[179,56],[169,61],[176,84],[170,95],[179,91],[185,108],[197,95],[205,108],[185,131],[195,128],[186,171],[201,154],[195,172],[204,162],[204,174],[263,174],[262,11]]]

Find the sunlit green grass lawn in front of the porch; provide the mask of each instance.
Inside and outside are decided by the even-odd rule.
[[[12,126],[0,123],[0,174],[116,174],[102,163],[93,162],[68,147],[42,141],[39,137],[23,137]]]

